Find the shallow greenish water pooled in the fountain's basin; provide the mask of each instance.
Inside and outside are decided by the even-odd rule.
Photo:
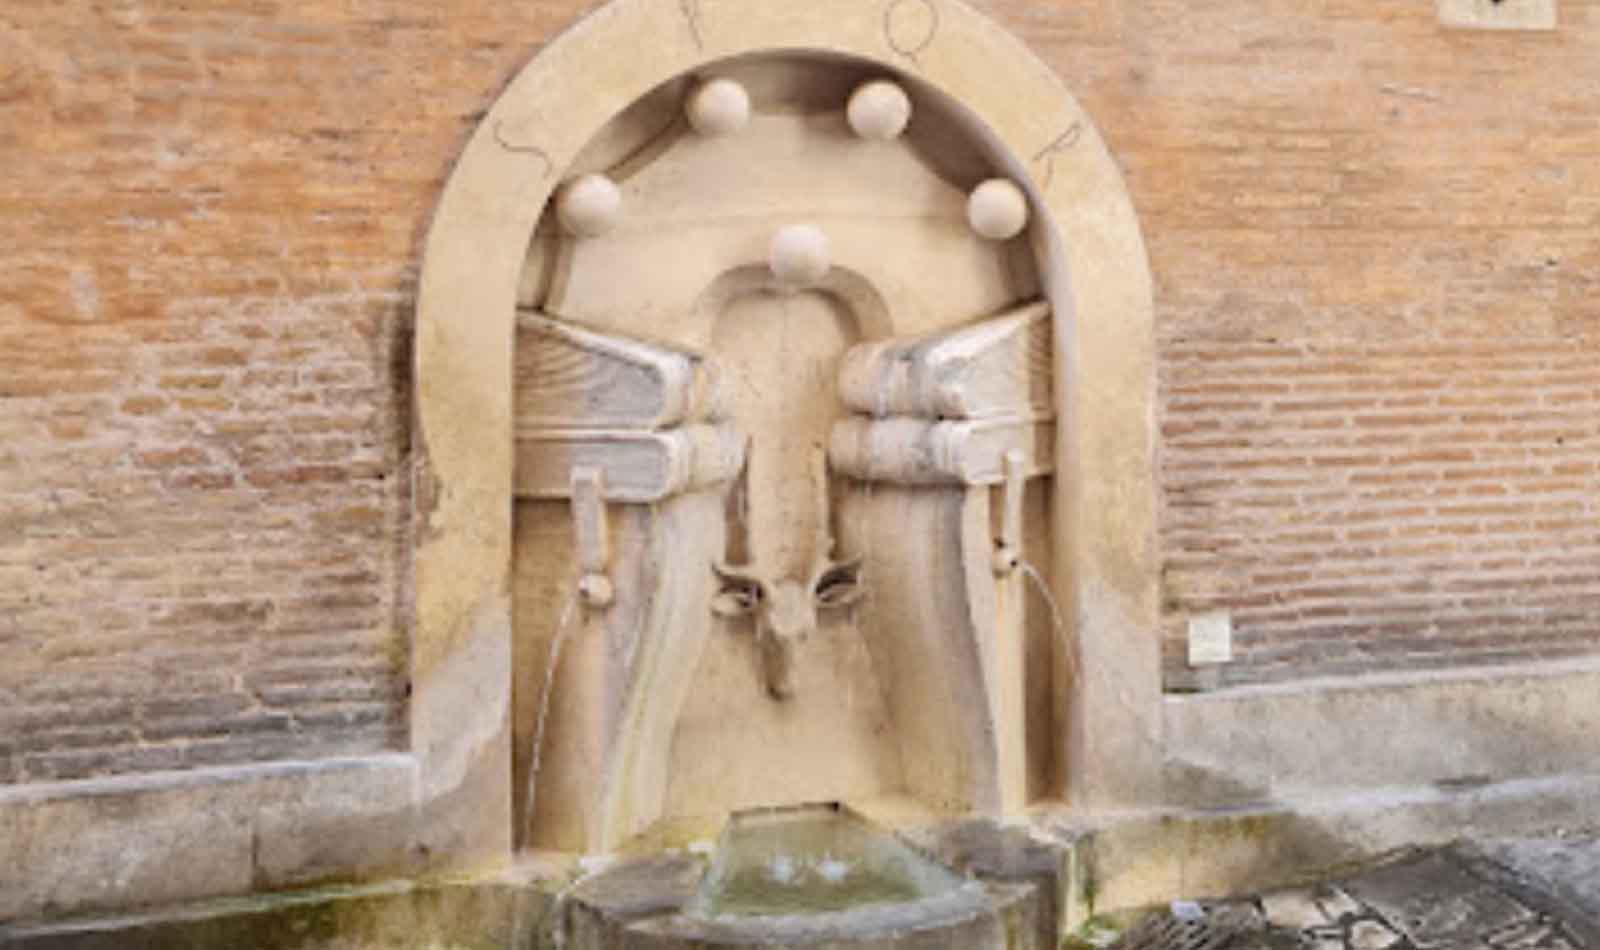
[[[902,904],[965,878],[837,804],[734,814],[686,912],[787,916]]]

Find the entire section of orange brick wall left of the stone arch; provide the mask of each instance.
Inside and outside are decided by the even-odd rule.
[[[0,782],[403,740],[418,245],[525,6],[0,11]]]

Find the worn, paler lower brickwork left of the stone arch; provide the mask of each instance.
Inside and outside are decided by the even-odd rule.
[[[400,294],[0,331],[0,777],[403,726]]]

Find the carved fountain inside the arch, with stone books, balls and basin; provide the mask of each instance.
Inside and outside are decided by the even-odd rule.
[[[643,856],[563,928],[1048,945],[1053,897],[936,857],[1056,780],[1026,182],[934,90],[803,53],[650,91],[562,176],[515,321],[515,824]]]

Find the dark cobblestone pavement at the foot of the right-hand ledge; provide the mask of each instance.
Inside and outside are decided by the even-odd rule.
[[[1600,836],[1454,844],[1323,884],[1173,904],[1115,950],[1600,950]]]

